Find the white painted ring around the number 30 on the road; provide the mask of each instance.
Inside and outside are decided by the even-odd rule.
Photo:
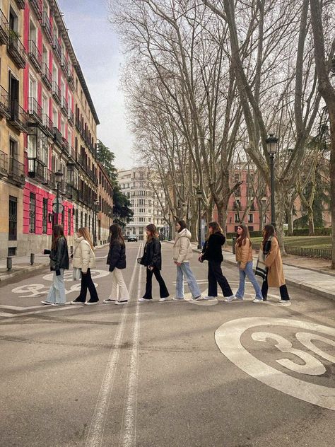
[[[317,385],[300,380],[289,374],[278,371],[276,368],[265,364],[242,346],[240,338],[242,334],[251,327],[258,326],[283,326],[298,327],[299,329],[321,332],[322,335],[335,337],[333,327],[318,325],[289,318],[241,318],[224,323],[215,333],[216,344],[221,352],[235,364],[258,381],[275,388],[276,390],[297,397],[305,402],[310,402],[319,407],[335,410],[335,390],[324,385]],[[269,329],[267,327],[267,329]],[[295,354],[298,351],[295,350]],[[301,357],[300,357],[301,358]]]

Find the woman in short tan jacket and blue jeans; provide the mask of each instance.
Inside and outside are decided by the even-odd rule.
[[[237,300],[243,299],[245,294],[245,277],[248,277],[249,281],[254,286],[254,291],[256,292],[254,303],[260,303],[263,301],[263,296],[261,294],[261,287],[259,286],[252,269],[252,243],[247,226],[242,224],[237,226],[237,236],[235,250],[238,271],[240,273],[240,284],[235,294],[235,298]],[[232,300],[226,298],[225,301]]]

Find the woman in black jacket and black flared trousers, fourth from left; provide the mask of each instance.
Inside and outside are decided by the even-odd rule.
[[[143,256],[141,257],[141,265],[146,266],[146,292],[142,298],[139,298],[139,301],[150,301],[153,299],[153,274],[159,284],[160,298],[167,298],[169,292],[167,291],[164,279],[160,274],[160,270],[162,269],[160,240],[158,238],[157,229],[153,223],[150,223],[146,227],[146,236],[147,242],[144,247]]]

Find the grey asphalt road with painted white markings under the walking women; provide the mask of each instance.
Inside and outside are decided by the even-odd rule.
[[[172,246],[163,277],[175,292]],[[109,296],[107,249],[93,272]],[[1,447],[329,447],[335,439],[334,301],[290,306],[139,303],[141,243],[127,243],[126,306],[45,308],[47,269],[0,287]],[[206,263],[192,260],[201,291]],[[223,263],[237,289],[237,269]],[[66,281],[67,301],[78,283]],[[189,299],[187,286],[186,297]]]

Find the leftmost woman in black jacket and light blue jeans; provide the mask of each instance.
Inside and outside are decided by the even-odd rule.
[[[45,301],[41,301],[41,303],[52,306],[64,306],[64,270],[69,270],[69,250],[61,225],[54,225],[54,228],[52,229],[51,250],[45,250],[45,253],[47,252],[49,252],[50,270],[54,272],[54,274],[47,298]]]

